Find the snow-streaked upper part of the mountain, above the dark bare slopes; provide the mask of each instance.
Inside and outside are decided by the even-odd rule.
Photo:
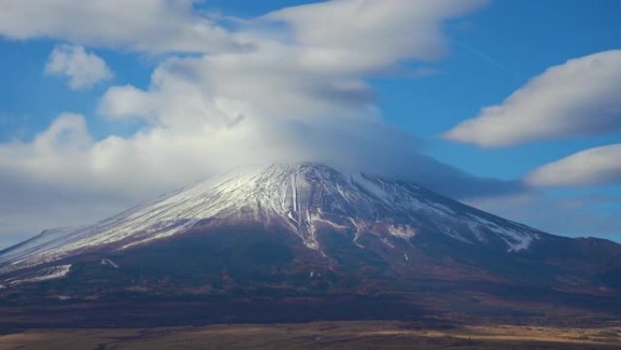
[[[0,273],[89,250],[146,245],[192,227],[240,223],[284,226],[313,250],[321,250],[317,230],[326,226],[354,242],[360,235],[410,240],[426,233],[509,252],[541,236],[411,183],[327,165],[278,164],[212,177],[95,225],[40,235],[0,253]]]

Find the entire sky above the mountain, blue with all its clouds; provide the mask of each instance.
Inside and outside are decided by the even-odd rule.
[[[105,21],[117,21],[115,14],[133,3],[153,5],[144,11],[147,19],[119,20],[113,25],[119,30],[109,32]],[[326,161],[355,159],[368,167],[372,161],[352,154],[360,147],[351,145],[373,147],[373,156],[390,159],[381,163],[390,171],[403,170],[412,180],[436,186],[433,189],[447,195],[453,188],[460,191],[459,186],[470,189],[454,195],[468,204],[559,235],[621,241],[621,170],[615,165],[621,163],[621,154],[608,147],[621,144],[621,103],[611,97],[594,106],[586,97],[582,102],[571,98],[571,94],[616,94],[621,101],[621,83],[614,82],[616,66],[621,65],[616,51],[621,49],[621,1],[468,0],[459,4],[449,0],[429,5],[429,1],[380,4],[371,0],[374,5],[368,11],[374,13],[359,19],[351,17],[348,4],[365,3],[362,0],[322,4],[330,15],[322,12],[322,5],[298,6],[312,3],[317,2],[208,0],[188,5],[153,0],[123,5],[111,1],[108,8],[98,10],[103,15],[94,16],[102,23],[91,22],[84,33],[63,23],[75,16],[72,11],[82,11],[78,13],[85,14],[86,22],[94,14],[87,5],[74,9],[68,2],[41,13],[15,5],[15,13],[5,12],[10,17],[0,15],[0,22],[5,22],[0,25],[0,76],[4,77],[0,85],[0,179],[4,184],[0,190],[12,191],[5,198],[22,199],[19,203],[0,200],[0,223],[5,225],[0,246],[49,225],[86,224],[256,159],[248,149],[260,149],[266,161],[323,160],[322,152],[330,151],[321,148],[327,148],[325,143],[315,145],[313,140],[326,137],[339,138],[333,147],[341,149]],[[281,9],[285,10],[275,12]],[[42,21],[29,15],[46,17]],[[395,17],[393,26],[387,25],[390,16]],[[367,19],[370,27],[340,28],[343,21],[363,23]],[[52,25],[28,27],[37,21]],[[170,25],[161,28],[157,23],[162,22]],[[188,35],[187,23],[204,25],[210,32]],[[437,28],[440,35],[435,33]],[[359,40],[365,35],[368,40]],[[395,35],[403,36],[399,36],[399,45],[391,46]],[[341,45],[344,53],[335,49]],[[256,50],[256,57],[247,54],[248,50]],[[611,54],[599,55],[606,52]],[[51,65],[54,53],[59,60],[56,68]],[[221,60],[224,55],[231,61]],[[270,61],[280,59],[279,55],[281,65]],[[290,55],[301,57],[301,64],[291,65]],[[318,61],[317,57],[323,58]],[[567,64],[571,59],[582,60],[573,67]],[[74,62],[74,68],[67,62]],[[594,65],[609,71],[593,73],[589,67]],[[547,75],[555,66],[557,73]],[[580,85],[580,79],[596,74],[613,81],[585,84],[580,91],[567,92],[569,101],[565,102],[550,92],[555,81],[567,78]],[[84,75],[90,80],[71,85],[72,78],[84,79]],[[545,80],[540,84],[545,89],[530,85],[539,77]],[[246,85],[253,88],[246,92]],[[261,86],[265,92],[258,91]],[[517,91],[526,91],[530,97],[504,104]],[[492,105],[500,107],[497,120],[504,118],[508,125],[522,117],[517,112],[545,105],[543,112],[533,112],[530,123],[554,121],[558,125],[549,127],[564,131],[516,135],[515,142],[505,145],[502,140],[481,138],[489,126],[478,123],[475,129],[447,136],[462,122],[485,116],[483,108]],[[569,109],[580,114],[572,112],[566,120],[555,112]],[[219,138],[240,115],[242,129],[235,132],[239,134]],[[67,133],[71,145],[57,145],[60,141],[55,137],[60,136],[50,131],[54,123]],[[308,140],[295,138],[299,126],[316,135]],[[216,127],[223,129],[211,129]],[[201,128],[204,134],[198,132]],[[506,129],[502,132],[511,139],[511,127]],[[588,133],[581,131],[586,129]],[[387,141],[392,138],[391,130],[404,135],[394,137],[399,143]],[[54,142],[37,146],[37,137],[48,140],[41,137],[46,132]],[[156,138],[162,144],[156,144]],[[202,143],[206,139],[211,141]],[[343,140],[348,145],[342,145]],[[366,145],[364,140],[372,141]],[[289,145],[291,150],[282,151]],[[103,153],[104,146],[118,149]],[[596,155],[558,163],[602,146],[606,149]],[[154,157],[156,153],[161,156]],[[206,165],[196,165],[202,156]],[[420,160],[423,156],[432,161],[425,163]],[[604,165],[593,163],[595,156],[606,156],[598,161]],[[70,162],[72,157],[75,163]],[[177,162],[179,174],[170,169]],[[436,170],[444,165],[450,167],[446,174]],[[429,170],[412,170],[417,168]],[[461,172],[468,174],[466,180]],[[461,180],[461,185],[455,184]],[[475,184],[487,181],[498,181],[506,189],[487,191],[483,188],[488,186],[480,185],[478,193]],[[38,202],[41,194],[54,199],[54,210]],[[53,213],[42,215],[41,211]],[[27,225],[25,217],[30,218]]]

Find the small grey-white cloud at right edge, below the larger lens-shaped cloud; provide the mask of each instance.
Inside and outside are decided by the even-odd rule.
[[[537,186],[621,184],[621,144],[605,145],[569,155],[527,176]]]

